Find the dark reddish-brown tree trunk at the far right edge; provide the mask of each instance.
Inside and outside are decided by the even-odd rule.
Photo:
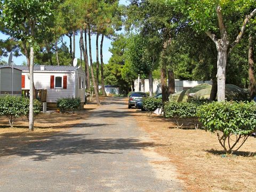
[[[249,91],[250,97],[253,99],[256,96],[256,82],[254,77],[254,61],[253,61],[253,39],[252,35],[249,35],[249,54],[248,54],[248,63],[249,63]]]

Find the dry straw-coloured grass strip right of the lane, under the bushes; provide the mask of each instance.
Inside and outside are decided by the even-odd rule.
[[[134,109],[132,109],[134,110]],[[204,130],[170,129],[174,122],[146,113],[137,121],[177,166],[188,191],[256,191],[256,139],[250,137],[235,155],[223,157],[217,136]]]

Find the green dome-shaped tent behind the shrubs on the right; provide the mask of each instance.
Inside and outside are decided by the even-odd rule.
[[[212,85],[209,84],[200,84],[194,86],[188,90],[183,90],[178,93],[170,95],[170,99],[178,102],[186,102],[189,95],[210,98]],[[247,90],[241,89],[236,85],[226,84],[226,98],[230,100],[249,100],[249,92]]]

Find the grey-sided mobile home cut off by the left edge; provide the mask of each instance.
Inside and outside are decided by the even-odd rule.
[[[21,95],[21,70],[9,66],[0,66],[0,95]]]

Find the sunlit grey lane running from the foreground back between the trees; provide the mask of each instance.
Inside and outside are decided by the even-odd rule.
[[[0,191],[182,191],[125,100],[102,104],[73,129],[1,157]]]

